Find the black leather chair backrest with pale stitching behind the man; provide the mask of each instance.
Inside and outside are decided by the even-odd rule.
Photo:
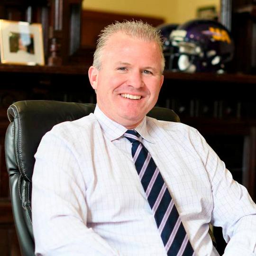
[[[9,127],[5,137],[6,165],[15,227],[22,255],[34,255],[31,219],[34,155],[41,138],[53,126],[89,115],[95,104],[61,101],[18,101],[8,109]],[[179,122],[173,110],[155,107],[148,116]]]

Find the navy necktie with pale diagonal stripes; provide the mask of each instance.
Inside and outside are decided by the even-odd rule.
[[[174,200],[152,156],[139,140],[135,130],[124,134],[132,143],[132,157],[148,203],[154,213],[168,256],[192,256],[194,251],[181,222]]]

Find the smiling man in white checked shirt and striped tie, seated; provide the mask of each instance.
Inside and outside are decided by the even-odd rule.
[[[97,93],[94,114],[55,126],[35,155],[37,255],[215,256],[210,223],[223,228],[225,256],[256,255],[256,205],[247,190],[232,180],[198,131],[146,117],[157,101],[163,70],[153,27],[132,21],[104,29],[89,69]],[[130,137],[138,140],[131,143]],[[179,231],[168,241],[162,236],[165,226],[159,225],[158,209],[137,170],[139,146],[162,177],[182,239],[176,239]],[[177,253],[171,254],[173,247]]]

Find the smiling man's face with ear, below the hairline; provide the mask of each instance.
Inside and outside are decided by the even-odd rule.
[[[163,84],[159,46],[118,32],[102,51],[101,70],[91,66],[89,79],[101,111],[135,128],[155,106]]]

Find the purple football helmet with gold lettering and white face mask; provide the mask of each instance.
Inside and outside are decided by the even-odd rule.
[[[194,73],[224,73],[234,54],[234,42],[226,27],[217,21],[188,21],[170,35],[169,69]]]

